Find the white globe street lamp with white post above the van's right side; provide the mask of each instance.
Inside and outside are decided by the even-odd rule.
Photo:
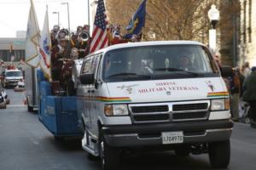
[[[212,4],[208,11],[208,18],[212,24],[212,29],[209,30],[209,48],[212,50],[213,54],[216,54],[216,25],[219,20],[219,12],[214,4]]]

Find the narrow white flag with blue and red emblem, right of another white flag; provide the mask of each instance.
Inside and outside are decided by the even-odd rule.
[[[50,80],[50,35],[49,35],[49,19],[48,19],[48,9],[46,8],[46,13],[44,17],[44,28],[41,32],[41,39],[40,39],[40,47],[39,47],[39,54],[40,60],[39,64],[41,70],[44,72],[44,76],[48,77]]]

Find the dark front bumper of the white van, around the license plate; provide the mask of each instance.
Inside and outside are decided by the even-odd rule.
[[[170,122],[103,126],[102,134],[112,147],[162,145],[163,132],[183,132],[183,144],[198,144],[228,140],[232,127],[231,120]]]

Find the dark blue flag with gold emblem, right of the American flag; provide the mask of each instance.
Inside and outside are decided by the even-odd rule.
[[[125,39],[131,39],[132,35],[140,35],[145,26],[145,16],[146,16],[146,2],[143,0],[143,3],[137,8],[136,13],[132,16],[129,25],[126,26],[127,33],[125,34]]]

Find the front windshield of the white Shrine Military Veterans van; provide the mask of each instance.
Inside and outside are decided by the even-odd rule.
[[[218,68],[200,45],[119,48],[105,54],[105,82],[217,76]]]

